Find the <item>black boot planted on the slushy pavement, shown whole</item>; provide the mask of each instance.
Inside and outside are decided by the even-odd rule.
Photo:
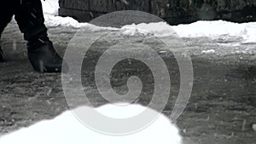
[[[55,52],[52,42],[43,34],[27,43],[28,60],[34,70],[38,72],[67,72],[68,66],[64,62],[62,66],[61,56]]]

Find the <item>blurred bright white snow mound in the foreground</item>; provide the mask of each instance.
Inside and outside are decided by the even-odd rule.
[[[109,118],[136,118],[138,112],[144,112],[147,107],[140,105],[116,106],[112,104],[96,108],[96,111]],[[91,107],[78,107],[74,112],[91,113]],[[80,119],[73,115],[73,112],[67,111],[60,116],[44,120],[38,124],[33,124],[9,135],[0,137],[1,144],[182,144],[182,137],[179,135],[176,125],[172,124],[170,119],[164,114],[148,109],[148,114],[159,115],[152,124],[148,124],[143,130],[131,133],[130,135],[104,135],[95,130],[87,128]],[[91,115],[84,116],[91,117]],[[141,120],[135,119],[135,122]],[[96,119],[96,121],[100,121]],[[131,126],[129,120],[126,126]],[[142,122],[141,122],[142,123]],[[108,124],[108,123],[107,123]],[[140,123],[137,123],[140,124]],[[110,129],[111,125],[107,125]],[[136,125],[137,126],[137,125]],[[113,129],[117,129],[113,125]]]

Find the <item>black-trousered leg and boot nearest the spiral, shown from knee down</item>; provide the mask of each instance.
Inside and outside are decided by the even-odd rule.
[[[27,41],[27,55],[32,67],[38,72],[61,72],[62,59],[47,36],[41,1],[20,2],[19,9],[15,11],[15,20]]]

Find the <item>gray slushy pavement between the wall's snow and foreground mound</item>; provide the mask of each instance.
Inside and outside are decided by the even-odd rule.
[[[60,55],[64,55],[67,44],[78,31],[72,27],[49,27],[49,37]],[[165,39],[172,41],[172,51],[162,49],[151,36],[117,34],[96,41],[84,58],[81,72],[84,92],[90,102],[95,107],[108,102],[99,94],[94,81],[96,61],[104,49],[113,43],[150,43],[165,60],[170,72],[171,95],[163,111],[166,115],[172,112],[180,84],[177,61],[172,52],[192,58],[193,91],[188,106],[176,121],[185,144],[256,144],[256,132],[252,127],[256,124],[256,43],[237,45],[240,43],[237,37]],[[0,63],[0,135],[54,118],[69,108],[61,87],[61,74],[32,70],[26,58],[26,42],[15,21],[3,32],[1,43],[7,61]],[[209,49],[215,52],[202,53]],[[140,53],[150,59],[150,54],[143,48],[116,50]],[[140,61],[124,60],[113,68],[113,89],[125,94],[127,79],[134,75],[143,82],[142,94],[136,102],[147,105],[153,94],[154,78]],[[80,105],[79,100],[74,102]]]

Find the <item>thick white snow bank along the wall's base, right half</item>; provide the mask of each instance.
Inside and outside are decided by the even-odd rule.
[[[246,43],[256,42],[256,22],[237,24],[224,20],[197,21],[189,25],[170,26],[166,22],[123,26],[143,29],[156,37],[242,37]]]

